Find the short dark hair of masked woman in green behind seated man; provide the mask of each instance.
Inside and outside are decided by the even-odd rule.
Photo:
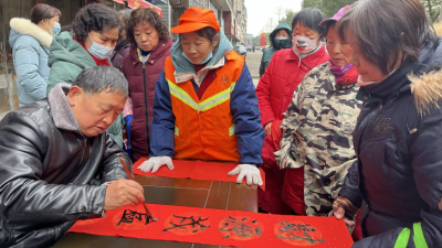
[[[84,42],[91,31],[102,33],[106,29],[122,29],[118,12],[101,3],[83,7],[75,14],[72,30],[75,39]]]

